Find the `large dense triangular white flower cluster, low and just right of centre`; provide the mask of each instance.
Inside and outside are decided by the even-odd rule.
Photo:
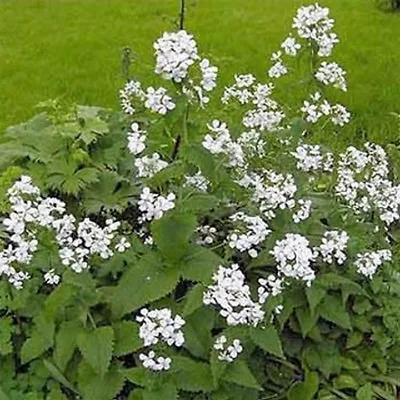
[[[219,307],[228,325],[257,326],[264,319],[264,311],[251,299],[250,288],[238,264],[229,268],[220,265],[213,281],[204,292],[203,303]]]

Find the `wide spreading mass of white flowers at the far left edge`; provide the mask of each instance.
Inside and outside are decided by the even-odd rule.
[[[77,273],[89,268],[91,255],[98,254],[107,259],[114,254],[113,247],[118,246],[114,239],[119,222],[109,219],[102,228],[85,218],[76,225],[75,217],[66,214],[65,203],[56,198],[41,197],[39,188],[28,176],[22,176],[7,194],[11,213],[3,225],[9,233],[9,245],[0,252],[0,275],[6,275],[17,289],[22,288],[23,281],[29,279],[30,274],[17,271],[16,265],[30,264],[38,248],[39,228],[55,233],[62,265],[70,266]],[[126,241],[124,250],[129,246]],[[58,284],[61,279],[54,268],[45,272],[43,278],[51,285]]]

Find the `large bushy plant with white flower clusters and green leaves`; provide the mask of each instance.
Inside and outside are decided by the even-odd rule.
[[[350,121],[324,93],[347,90],[333,27],[301,7],[273,82],[237,75],[217,110],[217,67],[165,33],[165,87],[127,82],[123,113],[49,102],[5,132],[0,394],[394,398],[397,164],[313,142]],[[273,93],[297,56],[294,110]]]

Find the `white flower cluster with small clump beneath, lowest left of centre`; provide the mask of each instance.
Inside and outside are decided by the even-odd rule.
[[[150,311],[143,308],[136,320],[141,324],[139,337],[145,347],[154,346],[159,342],[176,347],[181,347],[185,343],[182,332],[185,320],[179,315],[173,317],[169,308]],[[152,371],[168,370],[171,365],[169,357],[160,356],[156,358],[154,351],[150,351],[148,355],[141,353],[139,359],[145,368]]]

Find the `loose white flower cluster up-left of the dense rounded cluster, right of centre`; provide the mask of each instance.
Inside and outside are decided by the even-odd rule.
[[[271,232],[268,224],[260,217],[251,217],[243,212],[232,215],[230,219],[236,223],[236,229],[228,236],[229,246],[256,258],[257,247]]]

